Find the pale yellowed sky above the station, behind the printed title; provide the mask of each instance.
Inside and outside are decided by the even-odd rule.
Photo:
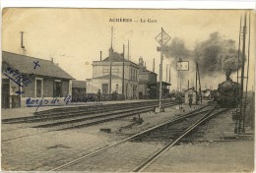
[[[209,38],[218,31],[225,39],[238,42],[239,20],[244,10],[117,10],[117,9],[58,9],[58,8],[5,8],[2,19],[2,49],[21,53],[20,31],[24,31],[24,45],[27,55],[50,60],[69,73],[76,80],[85,81],[93,76],[92,62],[108,56],[113,27],[113,48],[121,53],[130,41],[130,60],[138,63],[143,57],[149,70],[156,59],[156,72],[159,73],[160,46],[155,37],[160,29],[182,39],[185,46],[193,50],[197,43]],[[249,89],[254,86],[255,59],[255,18],[251,13],[251,49]],[[111,20],[110,20],[111,19]],[[113,19],[127,19],[132,22],[110,22]],[[155,23],[149,23],[148,21]],[[136,22],[138,21],[138,22]],[[146,21],[142,23],[141,21]],[[237,45],[238,47],[238,45]],[[163,58],[163,81],[165,67],[175,63]],[[193,63],[193,61],[190,61]],[[247,67],[247,65],[245,65]],[[200,68],[200,67],[199,67]],[[190,85],[195,85],[193,69],[184,72]],[[235,78],[232,75],[232,78]],[[202,79],[202,87],[217,88],[225,80],[224,75]],[[187,82],[186,82],[187,83]],[[171,69],[172,89],[176,88],[176,70]]]

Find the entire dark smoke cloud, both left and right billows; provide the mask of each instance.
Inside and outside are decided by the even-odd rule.
[[[237,45],[232,39],[225,39],[219,32],[213,32],[209,38],[198,42],[194,50],[186,48],[185,43],[180,38],[173,38],[169,44],[164,47],[164,58],[171,64],[173,72],[176,73],[176,61],[181,58],[183,61],[189,61],[189,73],[181,72],[182,86],[187,85],[187,81],[191,82],[191,86],[195,82],[196,62],[198,63],[201,83],[212,84],[226,80],[230,80],[230,75],[241,68],[242,56],[240,53],[238,63]],[[245,60],[243,60],[245,61]],[[211,78],[209,78],[211,77]]]

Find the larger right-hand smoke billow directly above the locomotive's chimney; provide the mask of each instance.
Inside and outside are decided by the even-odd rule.
[[[235,48],[235,41],[224,39],[219,32],[210,34],[209,39],[197,44],[194,50],[194,60],[198,62],[200,74],[203,76],[214,76],[222,73],[229,80],[231,73],[240,69],[242,57]]]

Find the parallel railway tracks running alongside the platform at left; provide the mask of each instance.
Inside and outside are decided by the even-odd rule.
[[[136,103],[125,103],[125,104],[117,104],[117,105],[108,105],[108,106],[93,106],[97,107],[97,109],[93,109],[92,107],[79,107],[71,109],[71,112],[80,110],[81,112],[75,115],[72,115],[71,112],[67,111],[63,113],[63,115],[59,115],[61,113],[60,110],[56,109],[53,111],[53,115],[50,114],[50,111],[42,111],[40,116],[36,115],[33,117],[25,118],[25,119],[8,119],[5,124],[16,124],[15,127],[9,127],[2,133],[12,134],[14,131],[27,131],[27,129],[34,128],[38,129],[34,131],[34,133],[30,133],[28,136],[26,133],[19,133],[18,136],[10,136],[8,139],[2,140],[2,142],[9,142],[16,139],[26,138],[30,136],[37,136],[38,133],[48,133],[51,131],[62,131],[62,130],[70,130],[70,129],[78,129],[84,128],[88,126],[93,126],[99,123],[113,121],[117,119],[121,119],[128,116],[137,115],[138,113],[144,113],[153,111],[153,108],[157,106],[157,101],[147,101],[140,102],[140,104]],[[119,107],[122,105],[122,107]],[[163,107],[169,107],[175,105],[174,102],[164,101]],[[103,108],[106,107],[105,112],[103,112]],[[82,110],[83,111],[82,111]],[[56,113],[58,112],[58,114]],[[51,117],[52,116],[52,117]],[[22,125],[25,123],[25,125]]]

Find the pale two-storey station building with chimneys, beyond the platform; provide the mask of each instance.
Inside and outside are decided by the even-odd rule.
[[[123,61],[124,61],[124,97],[126,99],[138,99],[138,71],[139,66],[123,58],[122,54],[111,53],[111,93],[122,94]],[[98,89],[104,95],[109,94],[110,85],[110,58],[102,61],[93,61],[93,78],[87,79],[87,92],[97,93]]]

